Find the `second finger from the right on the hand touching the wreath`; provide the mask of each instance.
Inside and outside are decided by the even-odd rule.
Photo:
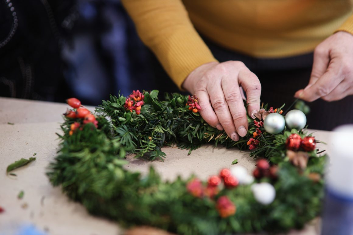
[[[228,74],[221,82],[223,94],[226,98],[229,111],[231,112],[232,120],[235,128],[241,137],[247,133],[249,123],[246,118],[246,111],[244,107],[243,98],[241,97],[237,79],[234,76],[238,74]]]

